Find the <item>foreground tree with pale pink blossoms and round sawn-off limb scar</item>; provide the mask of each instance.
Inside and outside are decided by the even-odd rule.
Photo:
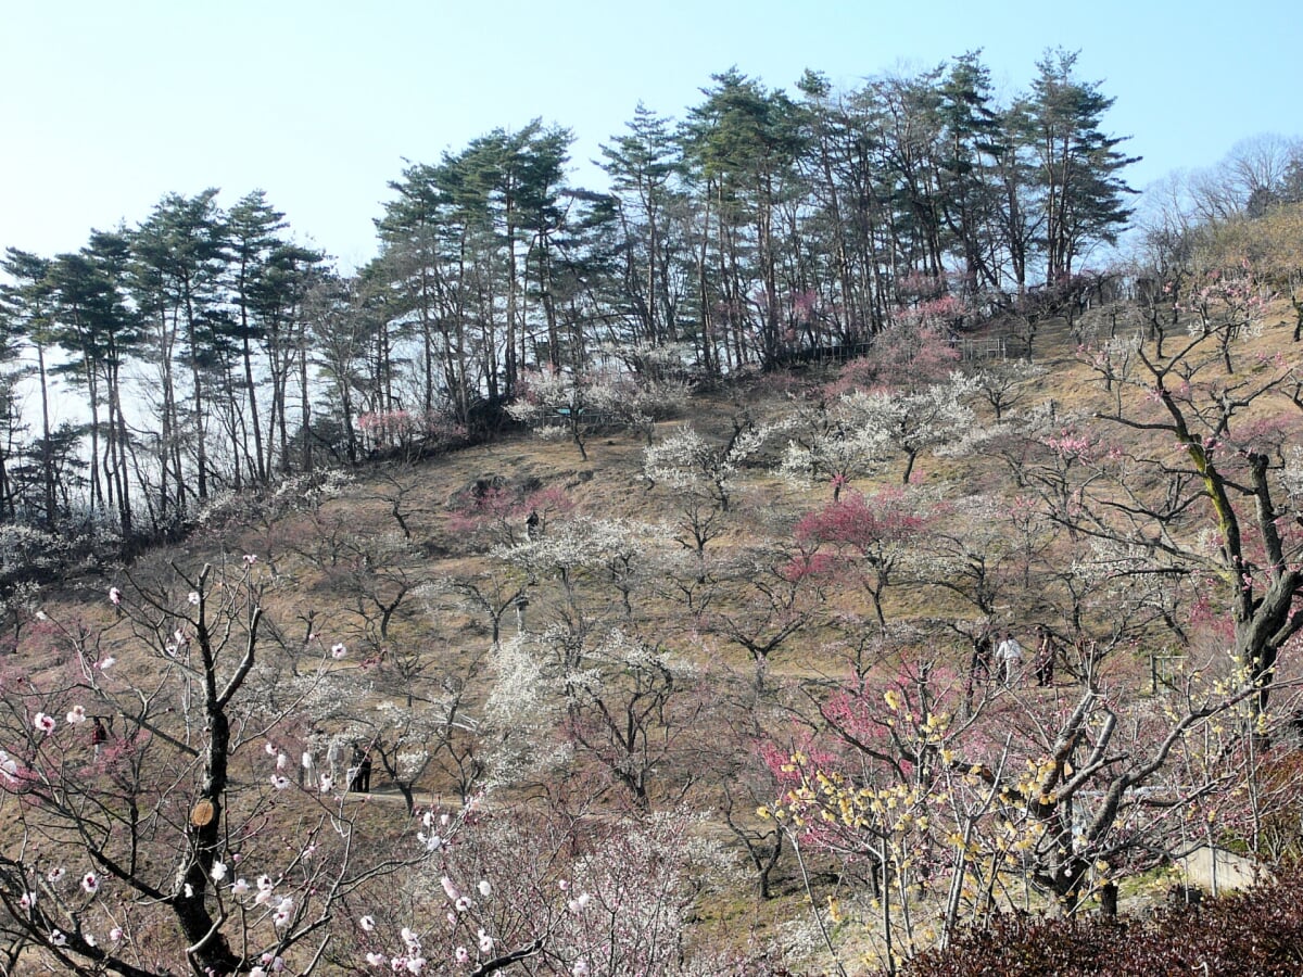
[[[63,666],[4,681],[0,905],[57,968],[270,973],[328,942],[353,823],[298,786],[293,703],[261,694],[265,584],[253,556],[138,569],[107,630],[42,621],[30,650]]]

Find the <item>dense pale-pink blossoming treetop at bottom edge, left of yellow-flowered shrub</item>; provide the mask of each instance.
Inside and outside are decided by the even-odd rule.
[[[685,946],[692,879],[728,879],[732,869],[696,828],[683,810],[638,822],[478,805],[426,810],[421,871],[343,921],[351,952],[334,961],[472,977],[727,973],[698,969]]]

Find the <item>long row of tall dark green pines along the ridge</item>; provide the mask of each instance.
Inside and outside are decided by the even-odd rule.
[[[353,275],[261,190],[168,194],[53,258],[9,248],[0,520],[159,537],[227,490],[463,438],[532,370],[718,378],[902,317],[1031,320],[1088,290],[1131,216],[1135,158],[1076,61],[1045,52],[1009,103],[980,52],[846,92],[731,68],[681,122],[640,104],[602,146],[606,193],[568,182],[568,129],[495,129],[408,163]],[[52,422],[56,380],[83,423]]]

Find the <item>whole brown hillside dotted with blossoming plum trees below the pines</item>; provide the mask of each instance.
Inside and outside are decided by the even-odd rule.
[[[12,602],[10,959],[152,973],[163,905],[218,968],[864,973],[1201,843],[1278,866],[1291,323],[1118,322],[291,479]]]

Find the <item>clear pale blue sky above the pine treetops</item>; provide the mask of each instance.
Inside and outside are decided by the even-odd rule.
[[[842,90],[982,50],[1005,100],[1048,50],[1117,99],[1143,189],[1264,133],[1303,135],[1296,0],[0,0],[0,248],[81,248],[167,193],[254,189],[343,270],[407,162],[534,117],[572,181],[641,100],[681,119],[736,66]]]

